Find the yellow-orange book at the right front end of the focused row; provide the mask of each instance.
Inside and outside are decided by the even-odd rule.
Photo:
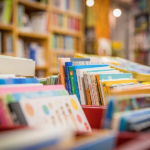
[[[126,80],[111,80],[111,81],[100,81],[101,93],[103,101],[105,104],[108,102],[108,97],[110,96],[110,86],[115,84],[125,84],[125,83],[137,83],[136,79],[126,79]]]

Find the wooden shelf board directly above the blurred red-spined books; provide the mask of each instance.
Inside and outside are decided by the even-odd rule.
[[[79,14],[79,13],[65,11],[65,10],[61,10],[59,8],[55,8],[55,7],[51,7],[50,9],[51,9],[52,12],[55,12],[55,13],[61,13],[61,14],[64,14],[64,15],[67,15],[67,16],[70,16],[70,17],[77,18],[77,19],[83,19],[83,15]]]

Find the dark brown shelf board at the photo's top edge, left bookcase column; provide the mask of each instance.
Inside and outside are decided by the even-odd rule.
[[[43,4],[40,2],[34,2],[34,1],[29,1],[29,0],[18,0],[19,4],[22,4],[24,6],[38,9],[38,10],[43,10],[45,11],[47,9],[47,4]]]

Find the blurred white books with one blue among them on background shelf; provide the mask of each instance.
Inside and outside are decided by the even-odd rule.
[[[46,65],[45,48],[36,42],[25,43],[20,38],[17,43],[17,56],[32,59],[37,66]]]

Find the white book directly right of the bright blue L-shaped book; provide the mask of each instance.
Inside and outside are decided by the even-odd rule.
[[[87,69],[77,69],[76,74],[77,74],[77,81],[78,81],[78,87],[79,87],[79,94],[80,94],[80,100],[82,105],[87,104],[86,100],[86,93],[85,93],[85,88],[84,88],[84,79],[83,79],[83,72],[85,71],[94,71],[94,70],[108,70],[110,67],[99,67],[99,68],[87,68]]]

